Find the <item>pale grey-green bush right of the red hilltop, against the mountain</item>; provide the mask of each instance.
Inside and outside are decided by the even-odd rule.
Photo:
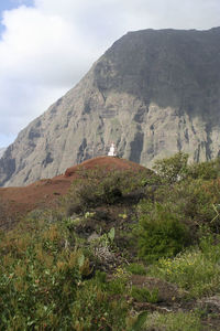
[[[184,179],[187,173],[188,154],[178,152],[174,157],[157,160],[154,170],[167,183]]]

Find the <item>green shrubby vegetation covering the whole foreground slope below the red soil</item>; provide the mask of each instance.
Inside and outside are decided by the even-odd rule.
[[[218,330],[219,202],[219,159],[80,170],[0,233],[0,330]]]

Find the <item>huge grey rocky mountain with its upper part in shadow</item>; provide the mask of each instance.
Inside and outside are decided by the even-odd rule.
[[[129,32],[19,134],[0,159],[0,185],[56,175],[111,141],[147,167],[180,150],[209,160],[219,135],[220,28]]]

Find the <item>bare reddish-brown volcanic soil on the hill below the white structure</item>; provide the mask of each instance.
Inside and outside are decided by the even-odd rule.
[[[0,201],[7,205],[9,215],[23,215],[36,207],[55,204],[61,195],[67,193],[72,182],[79,177],[80,169],[103,167],[109,170],[142,170],[142,166],[119,158],[99,157],[68,168],[65,174],[44,179],[22,188],[0,188]]]

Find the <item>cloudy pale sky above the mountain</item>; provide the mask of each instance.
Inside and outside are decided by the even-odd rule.
[[[128,31],[215,26],[219,0],[0,0],[0,148]]]

